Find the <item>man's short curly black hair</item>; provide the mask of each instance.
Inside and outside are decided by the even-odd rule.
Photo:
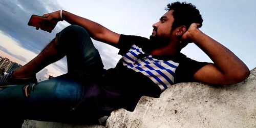
[[[174,23],[172,29],[175,29],[179,26],[186,26],[188,29],[192,23],[199,23],[202,26],[203,18],[195,5],[186,2],[175,2],[168,4],[165,10],[170,11],[174,10]]]

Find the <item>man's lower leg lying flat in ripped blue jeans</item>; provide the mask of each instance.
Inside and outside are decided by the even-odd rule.
[[[84,100],[84,93],[88,92],[84,89],[91,89],[91,80],[79,77],[77,72],[70,72],[30,84],[28,96],[24,92],[27,85],[8,87],[0,91],[0,109],[5,110],[2,116],[15,115],[20,119],[66,123],[97,123],[102,114],[97,111],[93,102],[88,101],[97,97],[95,94],[101,94],[92,93],[89,96],[91,98]],[[86,107],[83,108],[80,104]]]

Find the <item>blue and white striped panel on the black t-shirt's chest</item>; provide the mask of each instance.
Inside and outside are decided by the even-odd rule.
[[[162,91],[174,83],[174,73],[179,63],[172,60],[158,60],[152,58],[152,56],[137,59],[140,53],[144,52],[134,45],[132,49],[122,57],[123,65],[149,77]]]

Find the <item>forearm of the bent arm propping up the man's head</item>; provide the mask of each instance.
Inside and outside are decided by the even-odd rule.
[[[216,68],[227,79],[248,77],[249,70],[245,63],[218,41],[207,36],[200,30],[195,31],[192,35],[194,43],[210,57]]]

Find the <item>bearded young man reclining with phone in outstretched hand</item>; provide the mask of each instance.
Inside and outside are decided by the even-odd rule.
[[[58,33],[24,67],[0,78],[2,85],[25,84],[1,91],[0,107],[19,113],[19,118],[83,123],[119,108],[133,111],[141,96],[159,97],[175,83],[234,84],[248,77],[248,68],[236,55],[198,29],[203,19],[194,5],[176,2],[167,8],[153,25],[151,39],[120,35],[67,11],[43,15],[72,26]],[[122,58],[115,68],[103,70],[90,37],[120,49]],[[214,63],[198,62],[180,53],[189,42]],[[36,82],[35,73],[65,55],[67,74],[28,84]],[[84,116],[76,118],[80,115]]]

